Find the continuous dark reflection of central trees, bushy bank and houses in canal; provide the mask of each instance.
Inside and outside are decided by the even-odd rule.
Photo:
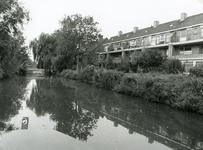
[[[203,116],[149,103],[64,78],[36,80],[27,106],[50,114],[56,130],[86,141],[99,116],[173,149],[203,148]]]

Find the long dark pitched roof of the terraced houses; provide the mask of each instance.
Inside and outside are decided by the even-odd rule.
[[[201,24],[201,23],[203,23],[203,13],[187,17],[183,21],[174,20],[174,21],[170,21],[167,23],[159,24],[155,28],[151,26],[148,28],[139,29],[136,31],[136,33],[134,33],[132,31],[132,32],[124,33],[120,36],[113,36],[108,41],[106,41],[105,44],[111,43],[111,42],[116,42],[116,41],[121,41],[121,40],[127,40],[127,39],[131,39],[131,38],[136,38],[136,37],[140,37],[140,36],[147,36],[147,35],[156,34],[159,32],[166,32],[166,31],[184,28],[187,26],[193,26],[193,25],[197,25],[197,24]]]

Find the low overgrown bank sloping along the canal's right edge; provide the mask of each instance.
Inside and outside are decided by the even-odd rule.
[[[124,73],[87,67],[80,74],[64,70],[60,76],[143,100],[203,114],[203,79],[182,74]]]

